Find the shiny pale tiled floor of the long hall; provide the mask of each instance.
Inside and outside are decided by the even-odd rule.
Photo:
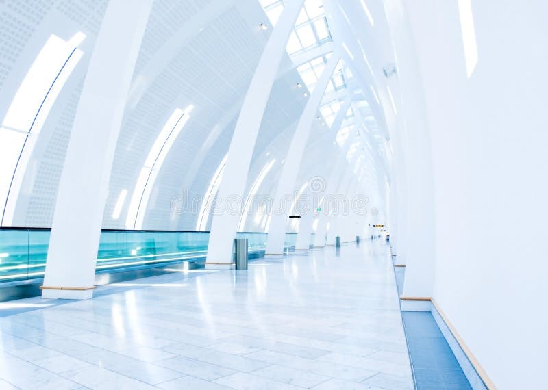
[[[384,242],[199,275],[0,318],[0,389],[413,389]]]

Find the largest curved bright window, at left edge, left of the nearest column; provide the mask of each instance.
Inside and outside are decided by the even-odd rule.
[[[64,83],[84,54],[77,49],[86,35],[65,41],[52,34],[21,82],[0,126],[1,225],[11,226],[36,138]]]

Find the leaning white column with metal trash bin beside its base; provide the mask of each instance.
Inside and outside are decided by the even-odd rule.
[[[232,268],[232,240],[236,237],[242,205],[236,212],[227,200],[242,202],[249,164],[266,103],[276,78],[286,43],[304,0],[288,1],[261,55],[244,99],[228,151],[223,181],[219,187],[219,205],[211,224],[207,268]]]

